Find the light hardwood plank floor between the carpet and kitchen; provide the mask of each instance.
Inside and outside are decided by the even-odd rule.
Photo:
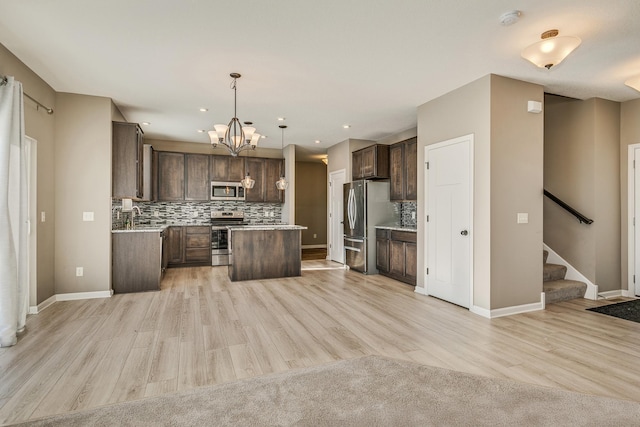
[[[489,320],[334,266],[170,269],[159,292],[58,302],[0,349],[0,423],[367,354],[640,401],[640,324],[584,310],[606,301]]]

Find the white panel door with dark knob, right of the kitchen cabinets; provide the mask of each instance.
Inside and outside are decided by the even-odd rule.
[[[472,304],[473,135],[425,147],[426,292]]]

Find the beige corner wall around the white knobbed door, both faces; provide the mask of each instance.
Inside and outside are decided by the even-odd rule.
[[[418,108],[418,286],[424,286],[424,148],[474,135],[473,305],[538,303],[542,292],[542,87],[488,75]],[[529,214],[516,224],[516,214]]]

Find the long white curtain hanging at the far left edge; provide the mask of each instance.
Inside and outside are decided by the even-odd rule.
[[[0,347],[16,344],[29,308],[27,167],[22,84],[0,85]]]

